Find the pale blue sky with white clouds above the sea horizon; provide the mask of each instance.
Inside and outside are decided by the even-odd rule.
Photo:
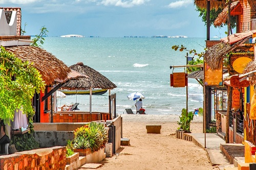
[[[0,7],[22,9],[25,35],[78,34],[84,37],[206,37],[194,0],[0,0]],[[226,37],[227,28],[210,28],[210,37]]]

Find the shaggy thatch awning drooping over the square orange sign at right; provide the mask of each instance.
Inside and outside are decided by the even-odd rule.
[[[246,36],[244,36],[246,35]],[[237,35],[230,35],[229,42],[228,38],[221,39],[221,43],[215,44],[208,48],[204,54],[204,60],[212,70],[221,69],[223,64],[223,58],[229,52],[235,50],[237,47],[245,43],[249,38],[252,37],[252,32],[238,33]],[[239,41],[238,41],[239,40]]]

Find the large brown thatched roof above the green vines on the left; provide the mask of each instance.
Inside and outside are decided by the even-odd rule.
[[[39,70],[42,79],[47,85],[51,85],[55,80],[65,81],[71,69],[46,50],[35,46],[11,46],[5,47],[22,61],[33,62]]]

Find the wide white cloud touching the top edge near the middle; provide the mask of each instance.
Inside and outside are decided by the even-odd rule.
[[[132,1],[122,1],[122,0],[103,0],[98,4],[102,4],[104,6],[116,6],[123,8],[131,8],[133,6],[143,5],[149,0],[132,0]]]

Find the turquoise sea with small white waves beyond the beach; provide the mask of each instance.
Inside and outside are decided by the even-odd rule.
[[[186,108],[186,88],[170,87],[170,65],[185,65],[186,52],[172,50],[183,44],[188,49],[203,51],[204,38],[61,38],[46,37],[43,47],[68,66],[83,62],[117,85],[117,113],[126,108],[135,112],[135,102],[127,99],[141,92],[147,114],[181,114]],[[174,72],[183,72],[175,68]],[[188,80],[188,110],[203,106],[203,89],[194,79]],[[109,110],[108,92],[92,96],[92,111]],[[58,105],[78,102],[78,108],[89,111],[89,95],[67,95]]]

